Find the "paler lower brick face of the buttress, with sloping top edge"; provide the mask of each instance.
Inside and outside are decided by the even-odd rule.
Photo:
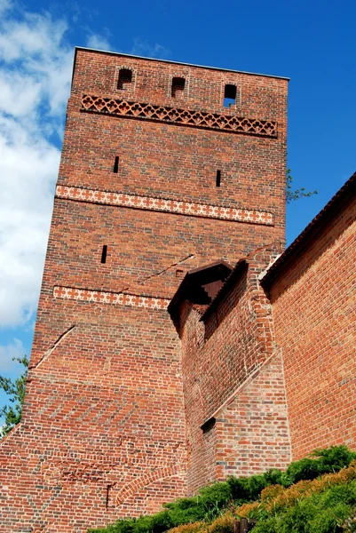
[[[217,414],[217,478],[286,468],[291,460],[281,354],[276,352]]]

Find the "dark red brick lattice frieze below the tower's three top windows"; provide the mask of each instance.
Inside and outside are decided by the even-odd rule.
[[[262,135],[263,137],[277,137],[277,123],[273,120],[257,120],[234,115],[218,115],[218,113],[190,111],[176,107],[153,106],[152,104],[103,98],[90,94],[83,95],[82,111],[143,118],[209,130]]]

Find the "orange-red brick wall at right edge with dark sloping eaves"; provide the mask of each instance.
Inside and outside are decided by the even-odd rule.
[[[355,213],[353,195],[271,289],[295,459],[331,444],[356,449]]]

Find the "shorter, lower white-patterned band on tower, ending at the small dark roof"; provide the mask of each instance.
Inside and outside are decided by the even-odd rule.
[[[79,300],[96,304],[112,304],[116,306],[144,307],[146,309],[166,309],[170,303],[166,298],[123,294],[123,292],[105,292],[103,290],[75,289],[75,287],[53,288],[53,297]]]

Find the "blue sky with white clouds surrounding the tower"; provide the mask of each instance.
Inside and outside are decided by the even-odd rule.
[[[289,76],[289,167],[319,191],[291,243],[356,171],[355,27],[352,0],[0,0],[0,375],[30,352],[75,45]]]

